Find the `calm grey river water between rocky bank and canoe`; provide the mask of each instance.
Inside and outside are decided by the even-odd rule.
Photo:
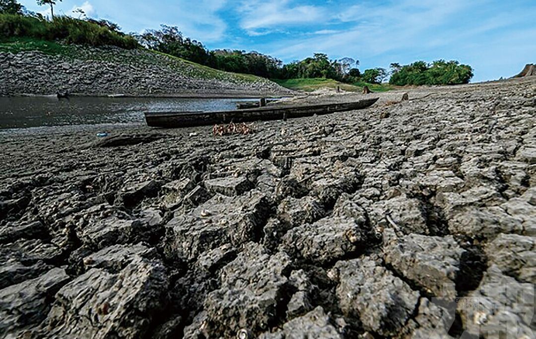
[[[143,124],[144,111],[219,111],[239,101],[152,97],[0,97],[0,130],[42,126]]]

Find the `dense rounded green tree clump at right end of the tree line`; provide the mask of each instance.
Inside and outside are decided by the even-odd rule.
[[[468,65],[460,65],[457,61],[434,61],[427,64],[423,61],[400,66],[391,64],[393,69],[389,84],[405,85],[459,85],[467,84],[473,77],[473,69]]]

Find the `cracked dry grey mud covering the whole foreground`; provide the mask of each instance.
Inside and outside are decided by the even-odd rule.
[[[0,336],[533,338],[536,80],[402,94],[0,135]]]

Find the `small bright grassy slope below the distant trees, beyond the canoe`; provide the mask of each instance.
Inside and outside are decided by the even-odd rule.
[[[293,89],[295,91],[306,91],[312,92],[315,89],[319,88],[337,88],[340,87],[343,91],[348,92],[361,92],[363,86],[368,86],[373,92],[385,92],[392,89],[388,84],[367,84],[366,82],[357,82],[356,84],[344,84],[332,79],[325,78],[312,78],[312,79],[272,79],[272,81],[277,82],[277,84]]]

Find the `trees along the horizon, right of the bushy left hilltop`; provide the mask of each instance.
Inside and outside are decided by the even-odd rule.
[[[162,25],[158,30],[147,30],[135,37],[148,49],[222,71],[254,74],[270,79],[327,78],[348,84],[381,84],[390,78],[391,85],[405,86],[467,84],[473,77],[471,66],[444,60],[430,64],[419,61],[405,66],[393,63],[389,71],[377,67],[367,69],[363,73],[357,68],[359,60],[349,57],[332,60],[323,53],[315,53],[301,61],[283,64],[277,58],[256,51],[209,50],[203,43],[184,37],[178,27],[166,25]]]

